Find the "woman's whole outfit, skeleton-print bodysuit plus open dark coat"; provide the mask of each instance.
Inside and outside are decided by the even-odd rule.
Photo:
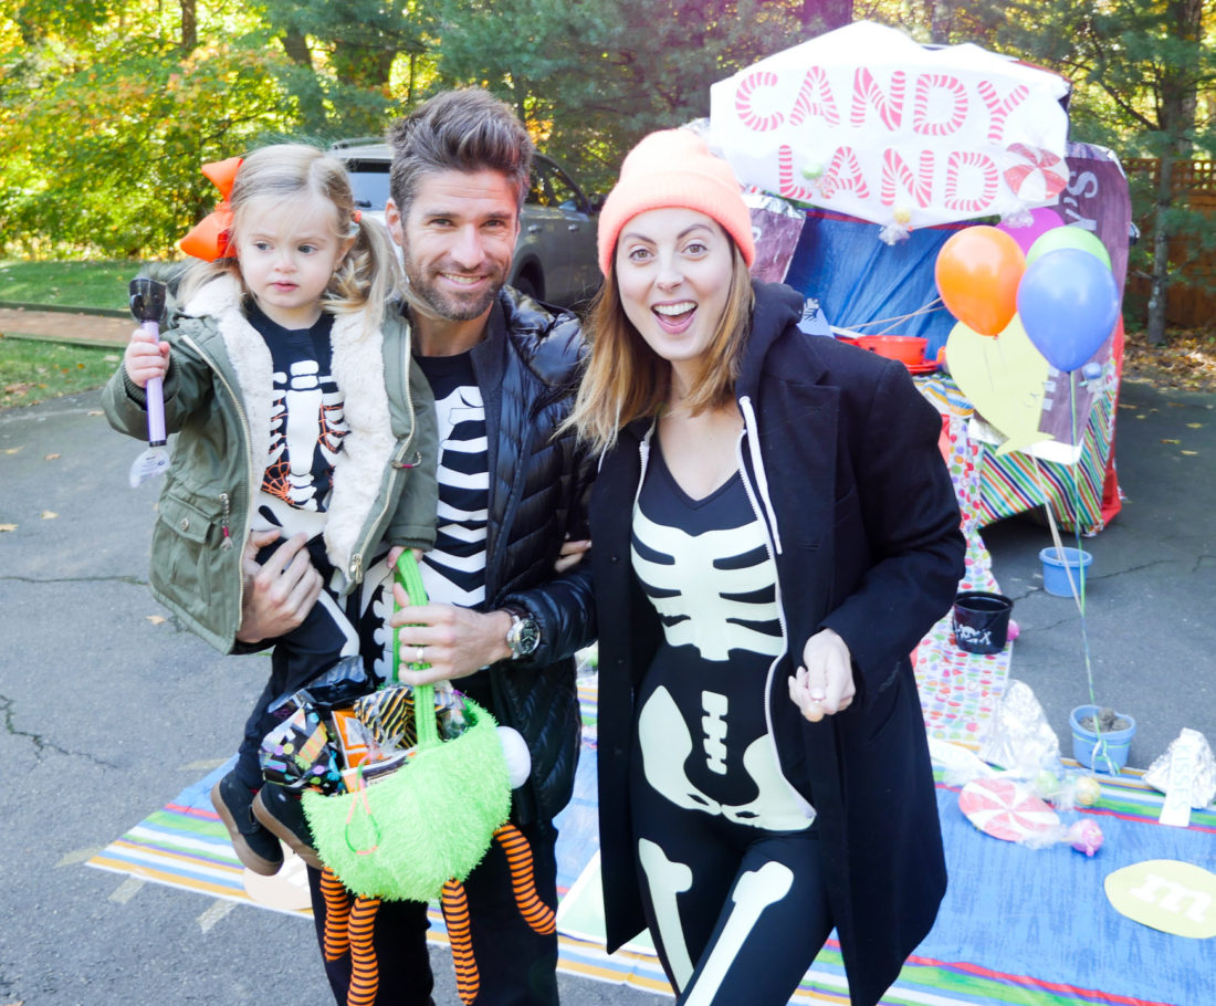
[[[592,491],[608,946],[648,926],[679,1001],[766,1006],[835,927],[871,1006],[945,892],[908,654],[964,543],[902,365],[805,336],[788,287],[755,297],[738,472],[689,500],[641,420]],[[786,681],[824,628],[857,693],[812,724]]]

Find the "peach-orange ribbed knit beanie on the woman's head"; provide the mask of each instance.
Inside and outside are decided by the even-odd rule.
[[[608,275],[625,224],[638,213],[668,207],[711,217],[734,238],[743,260],[751,266],[751,215],[731,165],[710,153],[691,129],[664,129],[629,152],[620,165],[620,180],[599,210],[599,271]]]

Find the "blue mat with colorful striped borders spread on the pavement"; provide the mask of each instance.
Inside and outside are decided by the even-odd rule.
[[[974,665],[959,667],[959,675],[974,676]],[[558,819],[559,967],[669,995],[649,946],[604,952],[593,679],[581,682],[580,697],[589,730],[575,797]],[[89,865],[259,904],[246,890],[243,871],[208,797],[226,769],[184,789]],[[1138,774],[1102,777],[1102,798],[1086,813],[1100,824],[1105,844],[1096,858],[1086,859],[1068,845],[1031,850],[983,834],[958,810],[957,789],[941,782],[940,774],[938,797],[951,886],[936,927],[883,997],[885,1006],[1206,1006],[1212,1001],[1212,942],[1171,937],[1125,918],[1107,901],[1102,881],[1148,859],[1216,867],[1216,811],[1197,811],[1189,828],[1166,827],[1156,824],[1161,794]],[[311,932],[302,931],[300,939],[310,940]],[[432,912],[430,939],[446,944],[438,911]],[[846,1006],[848,984],[835,942],[816,959],[793,1001]]]

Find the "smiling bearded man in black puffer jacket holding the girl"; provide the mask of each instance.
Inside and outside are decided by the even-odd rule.
[[[401,653],[430,668],[401,680],[455,680],[523,735],[531,775],[512,794],[511,819],[531,847],[536,889],[553,907],[552,820],[570,797],[579,749],[573,654],[595,636],[590,571],[570,568],[589,543],[568,540],[586,536],[587,466],[570,432],[554,435],[572,404],[582,337],[573,315],[550,314],[503,286],[533,151],[510,107],[479,90],[441,94],[394,124],[389,140],[385,218],[404,253],[413,352],[435,394],[440,442],[439,535],[422,561],[430,603],[392,617]],[[387,561],[370,569],[360,600],[372,659],[367,642],[384,647],[378,629],[388,598],[378,591],[389,571]],[[246,620],[281,630],[285,608],[303,607],[311,585],[299,571],[277,585],[258,575]],[[323,935],[326,903],[317,872],[309,873]],[[465,888],[478,1005],[556,1004],[557,938],[534,933],[520,916],[497,844]],[[377,1002],[430,1001],[427,926],[424,905],[379,906]],[[349,952],[326,970],[347,1002]]]

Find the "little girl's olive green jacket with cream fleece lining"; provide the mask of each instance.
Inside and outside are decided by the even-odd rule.
[[[349,432],[334,463],[325,544],[342,592],[362,579],[382,541],[429,549],[435,540],[430,387],[396,310],[385,310],[381,331],[365,333],[362,324],[362,313],[338,315],[331,336]],[[165,428],[178,435],[152,532],[152,594],[227,653],[241,620],[242,546],[270,453],[270,350],[227,276],[191,297],[162,338],[170,345]],[[102,403],[116,429],[146,439],[146,397],[123,367]]]

